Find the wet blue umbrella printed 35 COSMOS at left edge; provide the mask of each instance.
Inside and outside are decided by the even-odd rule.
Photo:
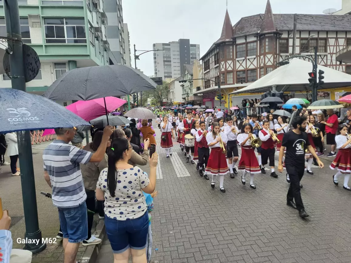
[[[0,89],[0,133],[91,126],[45,97],[17,89]]]

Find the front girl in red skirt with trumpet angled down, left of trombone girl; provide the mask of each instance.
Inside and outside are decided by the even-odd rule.
[[[206,136],[206,141],[208,147],[211,149],[210,157],[208,158],[206,172],[207,174],[212,175],[211,187],[214,188],[214,183],[216,182],[216,176],[219,175],[219,189],[221,192],[225,193],[225,189],[223,187],[224,175],[229,172],[229,168],[227,165],[227,161],[225,158],[225,154],[223,153],[223,148],[220,147],[219,142],[220,138],[217,133],[222,137],[222,142],[224,148],[227,143],[227,136],[220,132],[220,127],[218,122],[214,122],[212,124],[212,131],[208,133]]]

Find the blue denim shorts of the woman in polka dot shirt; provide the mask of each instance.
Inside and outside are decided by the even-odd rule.
[[[131,220],[115,220],[105,215],[105,227],[108,240],[114,254],[131,249],[144,249],[149,227],[147,212]]]

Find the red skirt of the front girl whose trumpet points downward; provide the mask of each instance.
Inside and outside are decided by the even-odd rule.
[[[206,166],[207,174],[211,175],[224,175],[229,171],[225,154],[222,153],[223,149],[220,147],[214,147],[211,149],[210,157]]]

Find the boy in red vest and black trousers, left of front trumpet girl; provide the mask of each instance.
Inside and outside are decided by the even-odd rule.
[[[200,122],[200,130],[196,133],[196,141],[198,143],[198,155],[199,155],[199,174],[202,177],[205,167],[207,167],[208,157],[210,156],[210,148],[208,148],[206,136],[207,130],[206,123],[204,121]],[[205,166],[204,166],[205,165]],[[206,180],[209,180],[206,172],[204,175]]]

